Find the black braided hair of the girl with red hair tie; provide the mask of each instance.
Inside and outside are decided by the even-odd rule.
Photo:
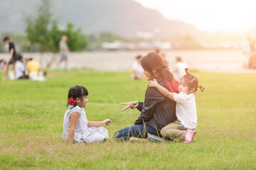
[[[83,96],[88,96],[89,92],[87,91],[87,89],[84,86],[72,86],[70,87],[69,91],[68,91],[68,100],[70,98],[73,98],[74,100],[76,100],[76,98],[80,98],[82,100]],[[69,103],[67,104],[67,106],[69,105]],[[73,106],[77,106],[77,103],[75,102],[73,104]]]

